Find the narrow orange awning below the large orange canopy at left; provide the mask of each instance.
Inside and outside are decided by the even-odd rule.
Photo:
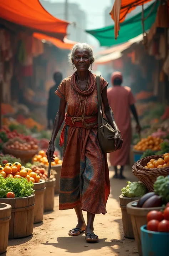
[[[72,49],[72,47],[77,43],[77,42],[70,41],[67,38],[64,38],[62,42],[57,38],[48,37],[47,35],[40,34],[40,33],[34,33],[33,36],[39,40],[45,40],[45,41],[51,42],[53,45],[57,46],[58,48],[67,49],[67,50]]]

